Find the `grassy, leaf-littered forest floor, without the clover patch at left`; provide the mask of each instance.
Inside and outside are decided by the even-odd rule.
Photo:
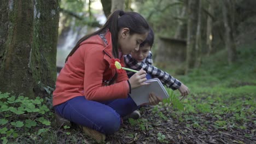
[[[104,143],[256,143],[255,45],[238,49],[235,64],[228,65],[222,51],[189,75],[175,76],[191,91],[182,110],[144,106],[141,118],[125,120]],[[58,129],[57,137],[57,143],[94,143],[75,129]]]

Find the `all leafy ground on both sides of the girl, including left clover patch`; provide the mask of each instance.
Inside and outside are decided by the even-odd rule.
[[[255,143],[255,45],[238,49],[235,64],[228,65],[225,52],[219,52],[203,59],[201,69],[175,76],[190,88],[183,105],[141,107],[141,118],[126,119],[104,143]],[[44,99],[1,93],[0,99],[2,143],[95,143],[68,124],[57,127]]]

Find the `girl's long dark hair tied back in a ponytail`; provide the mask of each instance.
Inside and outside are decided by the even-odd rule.
[[[80,43],[90,38],[92,35],[106,32],[107,29],[109,29],[112,36],[113,56],[118,58],[118,32],[121,28],[129,28],[131,35],[134,33],[144,34],[149,31],[149,25],[147,21],[140,14],[136,12],[124,12],[123,10],[116,10],[108,17],[108,20],[103,27],[94,33],[85,35],[77,42],[72,51],[68,54],[66,62],[68,57],[72,56],[73,53],[78,49]]]

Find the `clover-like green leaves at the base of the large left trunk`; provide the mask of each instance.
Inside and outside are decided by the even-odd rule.
[[[51,122],[44,114],[49,112],[42,98],[14,97],[9,93],[0,92],[0,134],[2,143],[22,135],[41,135],[49,129],[37,129],[42,124],[48,126]],[[51,114],[51,113],[49,113]],[[41,124],[39,124],[39,123]]]

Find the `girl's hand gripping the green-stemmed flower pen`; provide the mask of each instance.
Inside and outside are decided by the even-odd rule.
[[[146,71],[141,69],[137,73],[132,75],[129,79],[131,89],[139,86],[143,86],[143,85],[149,85],[149,83],[144,83],[145,81],[147,81],[146,74],[147,74]]]

